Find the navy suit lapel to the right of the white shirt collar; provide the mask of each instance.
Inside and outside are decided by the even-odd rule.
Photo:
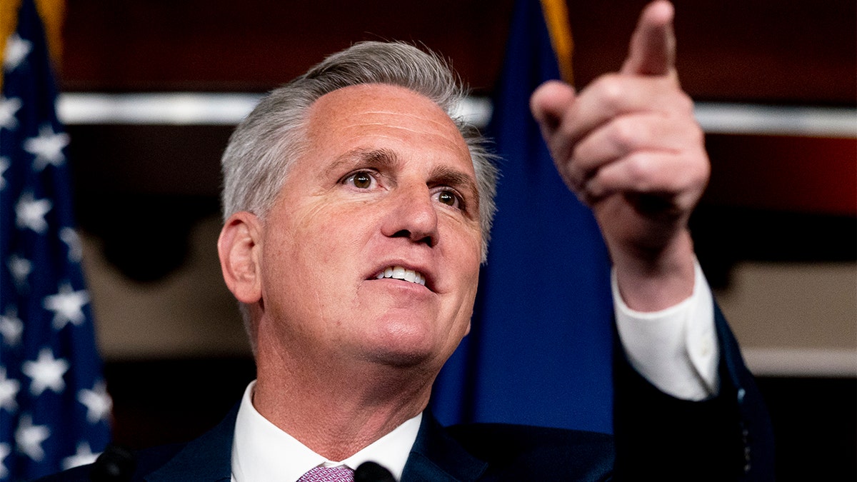
[[[401,482],[469,482],[478,479],[486,468],[487,463],[470,455],[426,411]]]

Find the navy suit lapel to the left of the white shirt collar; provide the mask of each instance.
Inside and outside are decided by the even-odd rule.
[[[196,438],[176,456],[145,477],[147,482],[213,482],[232,477],[232,437],[238,405],[202,437]]]

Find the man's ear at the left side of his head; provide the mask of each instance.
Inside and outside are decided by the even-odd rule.
[[[238,301],[252,304],[261,298],[261,223],[255,214],[232,214],[217,243],[226,287]]]

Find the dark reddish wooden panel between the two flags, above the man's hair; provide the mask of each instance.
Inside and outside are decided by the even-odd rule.
[[[264,91],[364,39],[422,42],[475,87],[496,76],[511,0],[280,2],[78,0],[69,5],[70,90]]]

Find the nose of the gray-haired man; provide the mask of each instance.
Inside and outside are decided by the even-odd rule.
[[[407,238],[428,246],[437,244],[437,207],[427,186],[399,186],[389,201],[391,205],[381,228],[385,236]]]

